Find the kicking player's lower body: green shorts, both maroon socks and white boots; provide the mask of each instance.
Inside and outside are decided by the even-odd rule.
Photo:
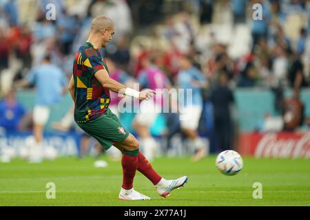
[[[142,157],[142,154],[138,154],[138,140],[126,129],[123,129],[116,115],[108,111],[106,115],[102,115],[96,120],[78,123],[78,125],[81,129],[95,137],[106,150],[113,144],[123,153],[123,187],[121,188],[119,198],[128,200],[149,199],[149,197],[134,190],[133,181],[136,169],[138,168],[141,173],[143,172],[143,175],[151,179],[152,182],[154,181],[154,184],[158,182],[159,177],[156,177],[155,171],[152,166],[149,166],[147,159]],[[183,186],[186,180],[187,177],[171,181],[161,178],[155,186],[160,195],[166,196],[174,188]]]

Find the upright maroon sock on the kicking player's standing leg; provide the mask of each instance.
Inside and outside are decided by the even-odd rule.
[[[136,167],[138,165],[138,157],[123,154],[123,185],[125,190],[130,190],[134,186],[134,175],[136,175]]]

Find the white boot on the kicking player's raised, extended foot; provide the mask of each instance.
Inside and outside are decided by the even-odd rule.
[[[180,177],[178,179],[166,180],[161,179],[158,184],[155,185],[157,192],[161,197],[167,197],[170,195],[170,192],[175,188],[180,188],[187,183],[187,176]]]

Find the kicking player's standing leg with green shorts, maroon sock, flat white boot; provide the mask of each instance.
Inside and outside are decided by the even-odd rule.
[[[77,123],[81,129],[96,138],[108,150],[112,145],[122,153],[123,184],[119,199],[146,200],[150,199],[134,190],[133,182],[138,166],[138,141],[133,135],[123,129],[116,115],[107,109],[105,115],[85,123]]]

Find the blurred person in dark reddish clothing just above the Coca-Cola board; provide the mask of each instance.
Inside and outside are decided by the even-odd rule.
[[[282,117],[284,120],[284,131],[294,131],[304,122],[304,104],[300,100],[299,89],[293,89],[291,98],[284,100]]]

